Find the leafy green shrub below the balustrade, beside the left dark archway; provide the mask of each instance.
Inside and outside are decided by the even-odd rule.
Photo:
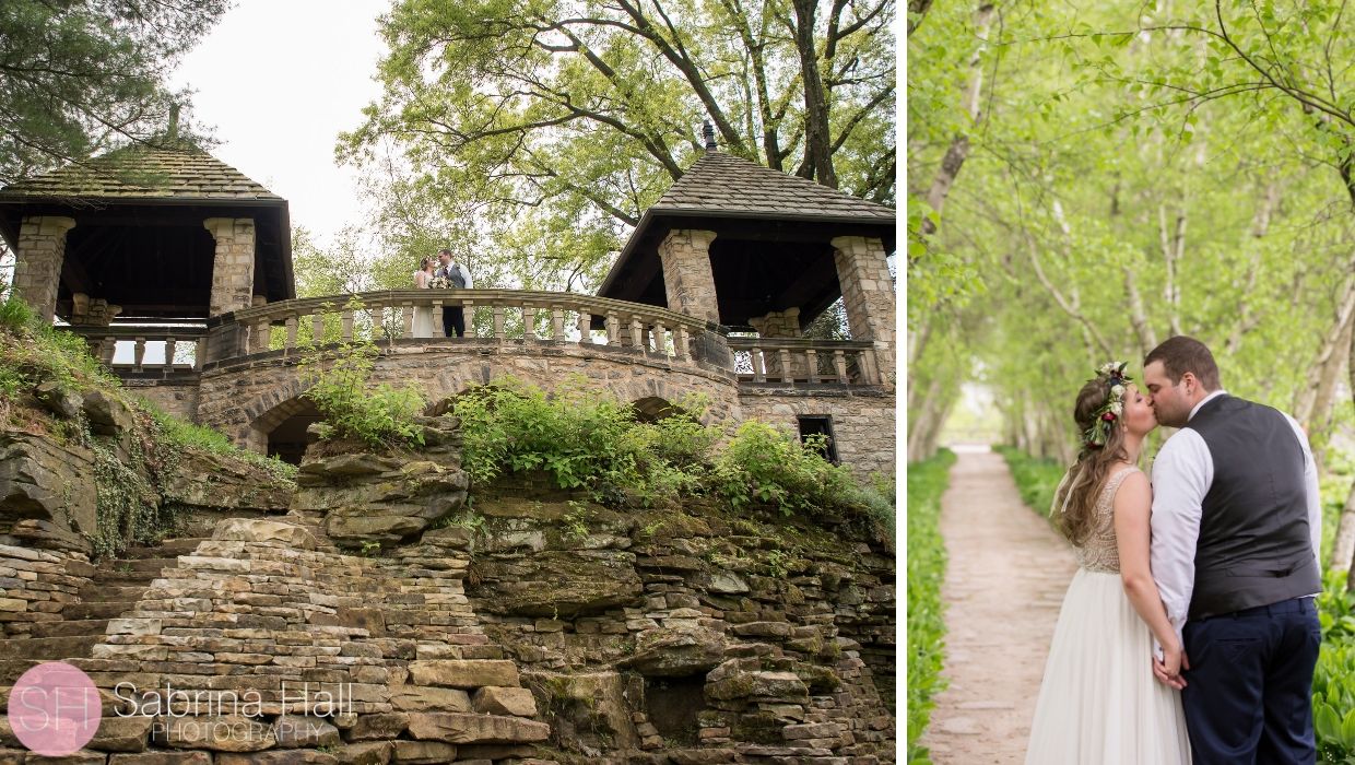
[[[423,428],[415,418],[425,401],[413,383],[373,386],[371,372],[381,351],[370,340],[337,347],[310,345],[297,366],[304,394],[324,417],[321,439],[354,440],[377,450],[423,444]]]

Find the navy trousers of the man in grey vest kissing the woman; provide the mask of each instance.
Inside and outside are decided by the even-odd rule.
[[[1317,762],[1310,597],[1187,621],[1186,728],[1195,765]]]

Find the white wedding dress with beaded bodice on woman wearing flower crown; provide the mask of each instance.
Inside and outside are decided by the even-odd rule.
[[[1180,692],[1153,677],[1153,635],[1119,577],[1114,498],[1137,467],[1106,482],[1096,525],[1054,626],[1027,765],[1188,764]]]

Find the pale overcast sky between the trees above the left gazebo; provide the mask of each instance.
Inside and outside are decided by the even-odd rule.
[[[183,60],[195,119],[213,126],[217,158],[289,202],[291,225],[321,241],[362,222],[355,173],[335,138],[379,93],[377,16],[389,0],[234,0]]]

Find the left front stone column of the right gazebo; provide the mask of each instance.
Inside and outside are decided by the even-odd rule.
[[[715,302],[715,276],[710,271],[710,242],[715,232],[675,229],[659,242],[659,259],[664,264],[664,290],[668,310],[720,324],[720,303]],[[715,332],[702,332],[695,337],[698,360],[733,368],[729,343]]]

